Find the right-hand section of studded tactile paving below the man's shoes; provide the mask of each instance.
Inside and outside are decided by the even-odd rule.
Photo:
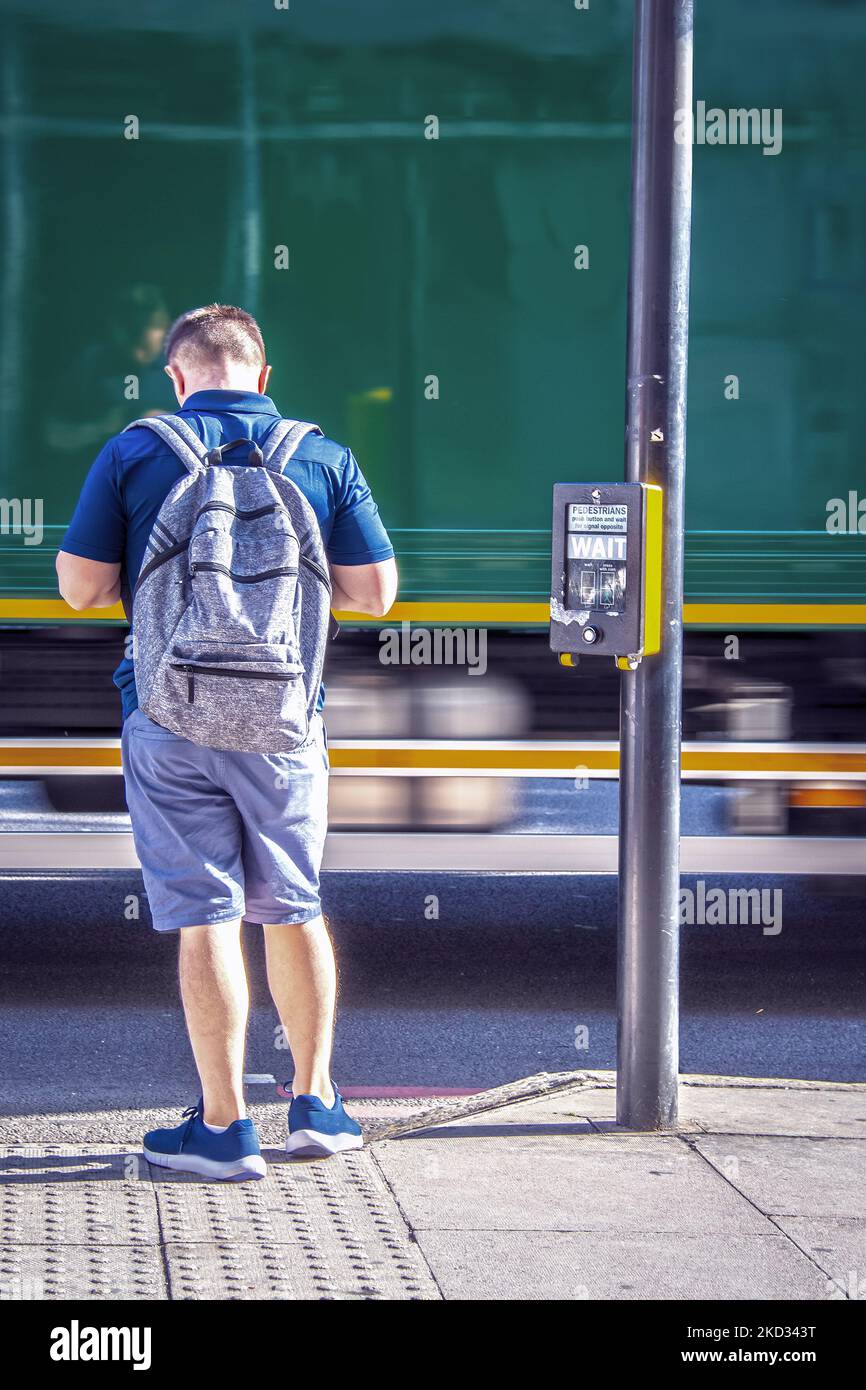
[[[370,1154],[267,1158],[260,1183],[154,1172],[171,1298],[441,1297]]]

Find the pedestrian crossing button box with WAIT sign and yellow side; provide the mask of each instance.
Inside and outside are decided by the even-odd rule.
[[[556,482],[550,648],[560,657],[614,656],[628,669],[659,651],[660,589],[662,489]]]

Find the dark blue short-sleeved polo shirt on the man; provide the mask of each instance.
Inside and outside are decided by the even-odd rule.
[[[182,416],[209,449],[228,439],[261,443],[279,411],[254,391],[196,391]],[[81,491],[61,550],[121,564],[121,599],[132,616],[132,589],[156,516],[186,468],[152,430],[115,435],[96,457]],[[286,478],[310,502],[334,564],[375,564],[393,555],[388,532],[350,449],[307,435],[289,459]],[[132,662],[114,673],[124,719],[138,709]],[[324,696],[320,694],[320,708]]]

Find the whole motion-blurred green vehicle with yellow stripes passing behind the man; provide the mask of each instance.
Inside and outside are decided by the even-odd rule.
[[[96,0],[1,10],[7,830],[122,809],[124,616],[68,610],[54,555],[88,411],[111,381],[121,423],[171,409],[154,334],[220,299],[260,317],[281,409],[352,445],[398,549],[396,607],[343,614],[328,660],[334,826],[448,833],[455,863],[459,831],[609,838],[620,677],[549,653],[549,512],[555,481],[623,477],[632,6],[238,25],[213,0],[206,36],[189,0],[110,28]],[[866,11],[699,6],[695,65],[696,99],[781,113],[781,145],[695,149],[684,830],[790,863],[866,834]],[[405,623],[484,634],[484,674],[385,663]]]

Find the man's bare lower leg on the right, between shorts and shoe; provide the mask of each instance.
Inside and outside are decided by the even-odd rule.
[[[295,1062],[295,1095],[334,1104],[331,1048],[336,962],[324,917],[265,924],[268,986]]]

